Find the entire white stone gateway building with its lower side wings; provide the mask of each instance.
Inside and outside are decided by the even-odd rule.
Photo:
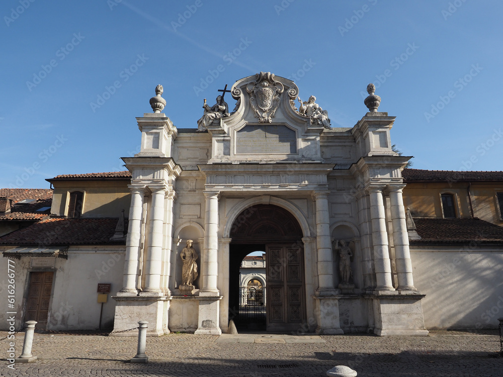
[[[116,331],[146,320],[152,336],[218,335],[242,304],[243,258],[262,250],[267,331],[494,327],[501,172],[476,183],[404,169],[395,118],[368,91],[362,119],[331,128],[313,96],[297,105],[293,81],[260,72],[232,86],[233,111],[225,96],[205,104],[195,129],[162,113],[159,85],[154,112],[136,118],[141,150],[123,158],[128,171],[50,179],[50,217],[0,237],[2,263],[18,263],[17,326],[30,317],[51,330],[95,329],[102,317]]]

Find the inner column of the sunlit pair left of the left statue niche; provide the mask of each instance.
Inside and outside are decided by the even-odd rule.
[[[152,203],[150,205],[150,244],[147,248],[145,268],[145,289],[140,296],[161,296],[160,273],[162,256],[162,225],[164,223],[164,187],[150,187]]]

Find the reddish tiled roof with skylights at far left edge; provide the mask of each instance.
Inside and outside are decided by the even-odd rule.
[[[12,200],[10,212],[0,212],[0,221],[37,221],[51,212],[52,190],[49,189],[0,189],[0,198]],[[24,199],[35,200],[33,203],[19,203]],[[45,211],[37,211],[49,207]]]

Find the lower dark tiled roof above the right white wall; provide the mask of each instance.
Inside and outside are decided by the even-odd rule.
[[[411,240],[411,244],[503,242],[503,227],[480,219],[414,218],[414,223],[421,239]]]

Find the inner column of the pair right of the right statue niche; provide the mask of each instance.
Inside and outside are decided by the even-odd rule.
[[[370,217],[372,221],[372,243],[374,244],[374,264],[376,271],[377,291],[394,291],[391,279],[391,263],[389,261],[388,233],[382,187],[371,186]]]

